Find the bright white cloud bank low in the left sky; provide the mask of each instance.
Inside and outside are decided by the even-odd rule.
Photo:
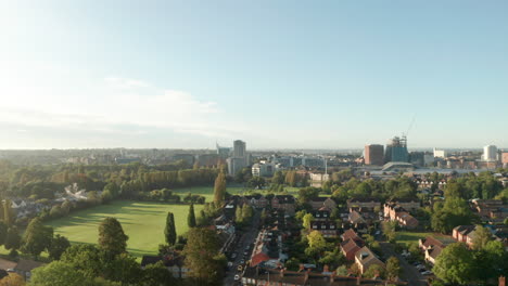
[[[76,84],[67,80],[75,81],[65,75],[50,75],[37,79],[45,84],[27,84],[29,78],[23,77],[0,83],[0,91],[10,94],[2,99],[0,122],[21,129],[72,128],[111,134],[142,134],[156,128],[214,139],[230,139],[245,130],[242,123],[228,121],[215,102],[185,91],[122,77]]]

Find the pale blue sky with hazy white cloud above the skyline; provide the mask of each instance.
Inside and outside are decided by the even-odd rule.
[[[361,148],[402,133],[409,148],[508,147],[507,13],[0,0],[0,148]]]

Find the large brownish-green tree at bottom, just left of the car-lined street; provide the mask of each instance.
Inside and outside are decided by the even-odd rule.
[[[217,234],[207,229],[189,230],[188,242],[183,248],[185,264],[191,270],[189,276],[198,285],[219,285],[224,268],[224,256],[219,256]]]

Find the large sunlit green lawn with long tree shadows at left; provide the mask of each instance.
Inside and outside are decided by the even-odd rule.
[[[202,205],[194,206],[196,216],[202,208]],[[101,221],[106,217],[116,218],[125,234],[129,236],[127,250],[140,260],[143,255],[156,255],[158,245],[165,243],[164,227],[168,211],[175,213],[177,235],[186,233],[189,229],[188,205],[132,200],[115,200],[107,205],[78,210],[46,224],[52,226],[55,234],[66,236],[72,244],[97,244]]]

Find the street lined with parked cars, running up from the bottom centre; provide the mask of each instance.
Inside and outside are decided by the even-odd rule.
[[[237,258],[234,259],[232,268],[227,272],[227,276],[224,278],[224,285],[227,286],[233,286],[233,285],[241,285],[240,281],[236,282],[234,281],[234,275],[239,274],[241,276],[241,272],[237,270],[238,265],[240,264],[240,260],[243,259],[243,251],[245,250],[245,247],[254,243],[254,239],[256,239],[258,230],[257,227],[259,226],[259,217],[261,217],[261,211],[256,210],[254,212],[253,219],[252,219],[252,225],[249,226],[249,231],[242,235],[240,238],[240,242],[238,243],[238,246],[234,248],[234,252],[238,255]],[[251,259],[250,257],[245,259],[247,261]]]

